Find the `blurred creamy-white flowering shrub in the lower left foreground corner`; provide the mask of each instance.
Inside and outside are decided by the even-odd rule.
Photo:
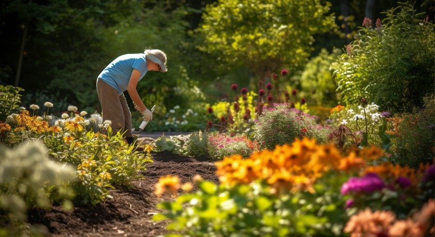
[[[10,227],[10,234],[18,236],[14,231],[25,230],[20,225],[27,221],[29,209],[49,209],[54,202],[71,209],[74,193],[66,184],[75,179],[74,167],[50,160],[38,140],[14,149],[0,144],[0,213],[7,215],[0,218],[0,226]]]

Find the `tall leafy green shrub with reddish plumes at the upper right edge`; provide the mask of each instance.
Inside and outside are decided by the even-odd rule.
[[[358,40],[333,63],[337,90],[347,106],[365,97],[381,110],[410,112],[433,93],[434,25],[409,3],[399,4],[385,12],[375,29],[360,27]]]

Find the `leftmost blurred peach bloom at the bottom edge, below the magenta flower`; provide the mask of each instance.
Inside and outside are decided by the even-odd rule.
[[[351,233],[351,237],[377,236],[377,234],[387,233],[395,219],[396,216],[391,211],[372,212],[370,208],[366,208],[350,217],[344,232]]]

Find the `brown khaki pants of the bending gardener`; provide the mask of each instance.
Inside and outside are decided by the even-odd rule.
[[[124,133],[124,137],[133,137],[131,131],[131,112],[124,95],[119,95],[118,91],[98,78],[96,80],[96,93],[100,100],[103,121],[112,122],[112,135],[119,131]],[[104,131],[107,135],[107,131]]]

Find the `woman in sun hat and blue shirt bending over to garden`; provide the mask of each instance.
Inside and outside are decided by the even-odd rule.
[[[143,104],[137,93],[137,83],[148,71],[166,72],[166,54],[158,49],[146,49],[143,53],[124,54],[111,62],[98,76],[96,91],[100,100],[103,121],[112,122],[112,133],[124,133],[127,143],[134,141],[131,112],[124,96],[127,91],[134,108],[151,121],[152,112]],[[104,131],[107,135],[107,131]]]

